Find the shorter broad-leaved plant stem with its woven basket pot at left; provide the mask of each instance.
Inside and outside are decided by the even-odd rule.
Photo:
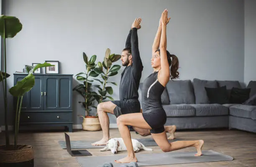
[[[15,112],[14,124],[14,144],[0,145],[0,166],[34,166],[34,152],[33,147],[26,144],[18,144],[18,132],[20,124],[20,111],[22,108],[23,95],[30,91],[35,85],[34,71],[41,67],[54,66],[50,63],[38,64],[36,66],[27,66],[28,75],[17,84],[9,89],[11,95],[18,98]]]

